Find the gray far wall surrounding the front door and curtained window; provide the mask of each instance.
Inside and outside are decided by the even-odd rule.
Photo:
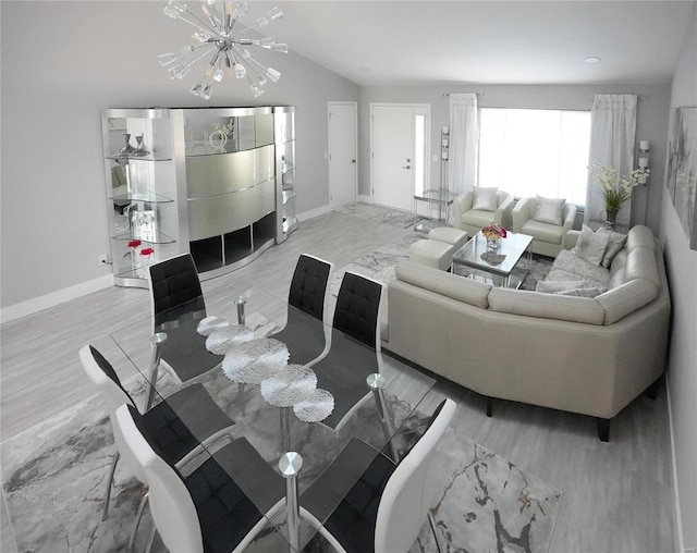
[[[482,108],[538,108],[561,110],[590,110],[595,94],[636,94],[637,142],[651,143],[651,171],[662,175],[669,124],[670,86],[500,86],[451,85],[423,87],[363,87],[360,89],[359,139],[360,168],[358,193],[370,192],[370,103],[429,103],[431,106],[431,153],[439,152],[440,130],[449,124],[447,93],[477,93]],[[438,186],[439,164],[431,163],[431,186]],[[661,217],[661,186],[655,179],[647,187],[638,187],[634,198],[635,222],[648,222],[658,233]],[[647,205],[648,201],[648,205]],[[648,209],[647,209],[648,207]],[[647,218],[645,219],[645,213]]]

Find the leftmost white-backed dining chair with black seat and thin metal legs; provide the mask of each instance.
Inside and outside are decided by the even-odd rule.
[[[80,360],[85,372],[97,385],[107,403],[117,442],[117,454],[113,457],[107,481],[102,512],[102,520],[106,520],[109,516],[113,475],[121,455],[135,477],[140,482],[145,482],[139,465],[130,455],[130,450],[124,447],[123,439],[114,421],[114,414],[121,405],[126,404],[135,407],[135,402],[121,383],[111,364],[97,348],[91,345],[84,346],[80,351]],[[178,468],[184,468],[201,454],[204,448],[215,447],[221,440],[230,441],[233,439],[232,427],[234,422],[218,407],[203,384],[192,384],[178,390],[167,400],[146,411],[143,419],[148,433],[163,452],[164,457],[175,464]],[[131,536],[131,546],[146,503],[147,495],[144,496],[138,507],[135,527]]]

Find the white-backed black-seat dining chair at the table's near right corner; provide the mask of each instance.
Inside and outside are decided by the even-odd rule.
[[[444,400],[421,438],[398,465],[353,438],[301,495],[304,517],[340,553],[406,553],[427,518],[439,543],[430,514],[437,490],[429,487],[427,477],[436,444],[455,409],[455,402]],[[355,483],[337,506],[337,493],[332,495],[331,491],[342,490],[344,482]],[[320,520],[326,523],[321,525]]]

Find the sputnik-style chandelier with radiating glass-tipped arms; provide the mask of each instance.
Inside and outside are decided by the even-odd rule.
[[[259,47],[266,50],[288,53],[288,45],[276,42],[273,38],[243,37],[243,34],[254,33],[256,29],[267,26],[273,20],[283,16],[278,8],[259,17],[253,26],[239,25],[237,21],[247,13],[247,2],[225,1],[220,2],[220,10],[216,7],[216,0],[201,0],[203,16],[195,13],[181,0],[170,0],[164,7],[163,13],[173,20],[182,20],[196,28],[192,38],[194,45],[185,46],[180,53],[167,52],[158,56],[158,61],[172,79],[183,79],[199,60],[208,59],[208,66],[204,76],[194,83],[191,93],[208,100],[212,94],[213,84],[222,81],[227,69],[236,78],[246,78],[249,82],[255,98],[264,94],[261,88],[267,79],[277,82],[281,73],[273,67],[267,67],[252,57],[248,47]],[[258,36],[258,34],[255,33]],[[170,66],[171,65],[171,66]]]

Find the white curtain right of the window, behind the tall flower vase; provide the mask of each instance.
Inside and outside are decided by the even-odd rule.
[[[634,137],[636,134],[636,96],[631,94],[597,94],[590,111],[589,161],[611,165],[619,175],[629,176],[634,170]],[[617,214],[617,223],[628,224],[632,201],[627,200]],[[606,208],[599,186],[588,179],[586,223],[604,221]]]

